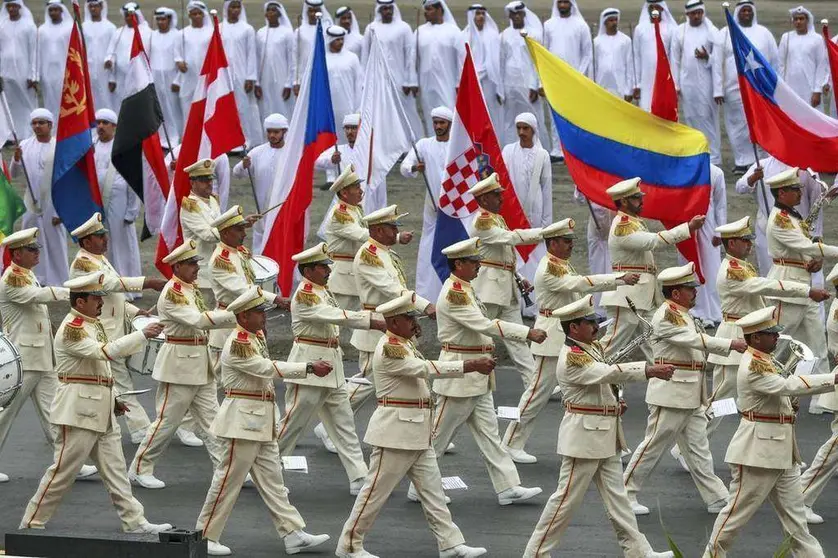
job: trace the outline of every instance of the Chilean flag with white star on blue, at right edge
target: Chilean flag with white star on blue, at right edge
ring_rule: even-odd
[[[751,141],[787,165],[838,172],[838,120],[798,97],[728,10],[725,16]]]

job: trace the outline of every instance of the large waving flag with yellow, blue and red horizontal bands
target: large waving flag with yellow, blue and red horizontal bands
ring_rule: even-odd
[[[710,152],[704,134],[615,97],[530,38],[527,46],[568,171],[587,198],[613,209],[605,190],[640,177],[643,217],[681,223],[706,213]],[[694,236],[677,248],[700,269]]]

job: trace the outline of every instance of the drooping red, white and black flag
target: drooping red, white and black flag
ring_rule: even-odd
[[[169,174],[158,130],[163,110],[157,98],[148,56],[133,16],[134,41],[126,85],[128,94],[119,107],[111,161],[135,194],[143,201],[143,239],[160,232],[163,208],[169,193]]]

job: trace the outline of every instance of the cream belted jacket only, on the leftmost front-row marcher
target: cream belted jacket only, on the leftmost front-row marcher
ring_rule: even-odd
[[[111,381],[110,362],[140,352],[144,346],[141,331],[108,341],[99,320],[71,310],[55,334],[55,371],[59,384],[52,401],[50,422],[107,432],[114,422],[112,388],[106,383],[95,383],[96,380],[90,383],[61,380],[69,376]]]

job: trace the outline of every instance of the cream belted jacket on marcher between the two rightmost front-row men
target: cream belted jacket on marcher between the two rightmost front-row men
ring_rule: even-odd
[[[646,403],[674,409],[697,409],[707,402],[705,354],[727,354],[730,339],[704,333],[688,310],[667,300],[652,317],[655,362],[675,365],[670,381],[651,378]]]

